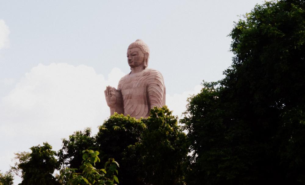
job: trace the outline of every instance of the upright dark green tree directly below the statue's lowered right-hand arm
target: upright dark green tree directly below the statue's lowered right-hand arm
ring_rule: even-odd
[[[145,184],[184,184],[183,164],[187,156],[186,135],[167,106],[154,107],[143,119],[147,129],[139,143]]]

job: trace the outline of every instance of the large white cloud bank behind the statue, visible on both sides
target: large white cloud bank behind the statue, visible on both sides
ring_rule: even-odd
[[[9,158],[18,151],[47,141],[54,150],[61,148],[61,138],[77,130],[97,127],[109,117],[104,90],[117,83],[125,74],[113,68],[108,79],[96,74],[92,67],[65,63],[42,65],[31,69],[14,89],[0,100],[0,169],[8,170]],[[9,83],[11,80],[7,80]],[[186,99],[198,93],[201,86],[182,94],[167,95],[173,114],[185,111]]]

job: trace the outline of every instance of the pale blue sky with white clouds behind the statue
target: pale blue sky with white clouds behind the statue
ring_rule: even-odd
[[[130,72],[127,47],[142,39],[163,74],[166,104],[181,117],[201,82],[231,65],[228,34],[261,0],[0,1],[0,170],[14,153],[98,126],[104,90]],[[20,182],[16,179],[15,183]]]

